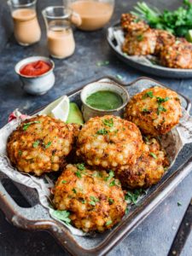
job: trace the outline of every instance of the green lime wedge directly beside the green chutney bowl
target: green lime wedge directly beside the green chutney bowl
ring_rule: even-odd
[[[67,123],[68,124],[79,124],[79,125],[84,124],[84,118],[82,116],[82,113],[80,112],[78,105],[74,102],[70,103]]]

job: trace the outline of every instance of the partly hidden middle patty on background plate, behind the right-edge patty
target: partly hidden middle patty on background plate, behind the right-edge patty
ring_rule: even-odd
[[[156,29],[157,34],[157,42],[155,45],[155,54],[159,55],[161,50],[164,49],[166,45],[171,46],[175,43],[176,38],[172,35],[171,32],[167,32],[166,30]]]

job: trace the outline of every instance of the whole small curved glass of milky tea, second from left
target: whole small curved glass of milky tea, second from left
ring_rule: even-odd
[[[50,6],[42,14],[47,28],[49,54],[58,59],[73,55],[73,11],[63,6]]]

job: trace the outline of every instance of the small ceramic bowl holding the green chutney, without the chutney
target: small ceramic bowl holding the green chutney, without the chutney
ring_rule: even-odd
[[[119,108],[115,108],[115,109],[111,109],[111,110],[102,110],[102,109],[96,109],[96,108],[92,108],[90,107],[90,105],[88,105],[86,103],[86,99],[93,93],[95,93],[96,91],[101,91],[101,90],[109,90],[109,91],[113,91],[117,94],[119,94],[119,96],[121,96],[123,103]],[[81,101],[83,103],[82,105],[82,113],[84,116],[84,121],[89,120],[92,117],[95,116],[103,116],[103,115],[108,115],[108,114],[112,114],[112,115],[117,115],[117,116],[123,116],[124,113],[124,108],[127,104],[127,102],[129,101],[129,94],[127,92],[127,90],[120,86],[119,84],[116,83],[112,83],[112,82],[105,82],[105,81],[101,81],[101,82],[95,82],[92,84],[88,84],[84,87],[84,89],[81,91]]]

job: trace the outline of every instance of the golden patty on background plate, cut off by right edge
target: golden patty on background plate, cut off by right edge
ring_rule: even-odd
[[[192,44],[181,38],[166,45],[160,52],[160,62],[166,67],[192,68]]]

